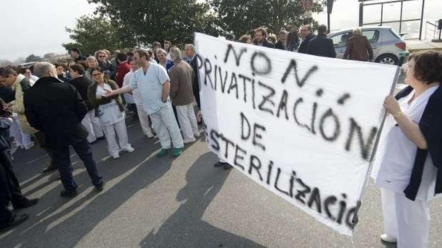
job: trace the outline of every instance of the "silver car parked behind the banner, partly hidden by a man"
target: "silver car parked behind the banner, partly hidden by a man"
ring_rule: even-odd
[[[368,38],[373,48],[373,59],[376,63],[397,65],[399,53],[406,51],[405,41],[391,27],[361,27],[362,35]],[[353,36],[353,29],[339,30],[327,35],[333,40],[336,58],[342,59],[347,42]]]

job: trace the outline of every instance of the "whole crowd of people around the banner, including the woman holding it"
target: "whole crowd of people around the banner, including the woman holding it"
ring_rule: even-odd
[[[264,28],[257,28],[253,39],[244,35],[239,42],[334,58],[333,42],[326,37],[326,32],[326,27],[321,25],[314,35],[311,27],[305,25],[298,39],[297,32],[287,33],[282,29],[276,37],[268,35]],[[361,29],[354,29],[353,34],[344,58],[373,59],[373,51]],[[45,149],[51,162],[42,172],[58,169],[63,197],[77,195],[69,146],[73,146],[84,162],[98,192],[103,189],[104,180],[97,170],[90,144],[105,139],[109,156],[114,159],[118,159],[122,151],[135,152],[129,142],[127,113],[138,116],[147,138],[159,139],[158,157],[180,156],[184,145],[195,142],[200,135],[198,122],[202,114],[194,45],[187,44],[182,51],[169,41],[163,46],[154,42],[151,49],[116,52],[114,56],[107,50],[98,50],[93,56],[84,56],[78,49],[71,49],[69,53],[72,57],[69,63],[39,62],[29,68],[0,68],[3,86],[0,88],[0,228],[10,228],[27,219],[26,214],[11,212],[10,202],[14,209],[38,202],[21,193],[13,171],[9,135],[17,147],[31,149],[36,142]],[[377,181],[383,188],[386,234],[382,239],[397,241],[399,247],[425,247],[428,201],[442,192],[440,68],[441,53],[412,55],[406,70],[409,87],[396,98],[388,96],[384,103],[391,118],[398,123],[394,130],[388,130],[386,142],[394,145],[387,147],[385,154],[396,154],[400,159],[392,162],[389,155],[385,155],[380,175],[389,181],[396,178],[402,181],[388,185]],[[404,152],[407,156],[403,156]],[[419,188],[424,163],[425,171],[429,172],[426,172],[423,188]],[[221,158],[214,166],[232,168]],[[410,216],[424,228],[407,222]],[[409,246],[409,242],[413,245]]]

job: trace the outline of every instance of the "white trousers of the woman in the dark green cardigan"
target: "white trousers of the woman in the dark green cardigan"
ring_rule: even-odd
[[[119,121],[114,125],[101,126],[101,128],[104,131],[104,136],[107,141],[107,150],[111,156],[118,155],[120,148],[121,150],[127,150],[132,147],[128,142],[128,131],[126,129],[125,120]],[[117,144],[115,133],[117,133],[120,146]]]

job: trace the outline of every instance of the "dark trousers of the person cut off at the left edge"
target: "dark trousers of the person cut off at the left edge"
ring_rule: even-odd
[[[12,169],[11,156],[7,151],[0,152],[0,224],[8,223],[12,218],[11,211],[6,207],[10,201],[15,206],[26,200]]]

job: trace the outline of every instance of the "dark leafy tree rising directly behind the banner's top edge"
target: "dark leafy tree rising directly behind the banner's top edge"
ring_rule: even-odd
[[[303,23],[305,11],[302,0],[211,0],[218,25],[236,38],[265,27],[277,34],[281,28],[297,30]],[[313,0],[312,12],[322,11],[325,0]]]

